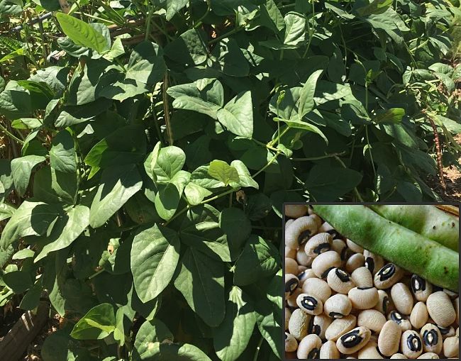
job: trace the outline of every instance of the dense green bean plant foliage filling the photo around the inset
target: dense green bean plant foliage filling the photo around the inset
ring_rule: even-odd
[[[0,305],[48,292],[45,361],[276,360],[282,203],[438,199],[435,133],[459,167],[446,1],[70,5],[0,0]]]

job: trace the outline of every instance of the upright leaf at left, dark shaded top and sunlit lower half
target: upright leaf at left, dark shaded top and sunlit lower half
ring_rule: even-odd
[[[61,130],[52,140],[50,165],[59,172],[77,172],[74,138],[66,129]]]

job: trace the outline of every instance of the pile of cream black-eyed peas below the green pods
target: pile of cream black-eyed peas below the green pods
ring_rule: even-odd
[[[459,297],[285,206],[285,355],[458,358]]]

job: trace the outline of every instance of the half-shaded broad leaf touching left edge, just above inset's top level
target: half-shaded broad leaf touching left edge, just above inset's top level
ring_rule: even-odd
[[[1,233],[0,248],[6,249],[21,237],[43,235],[61,213],[62,208],[57,204],[24,201],[6,223]]]

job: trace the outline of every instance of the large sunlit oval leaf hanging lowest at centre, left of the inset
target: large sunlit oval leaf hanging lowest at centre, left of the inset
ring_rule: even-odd
[[[162,226],[141,231],[131,247],[131,273],[139,299],[155,299],[173,277],[179,259],[177,233]]]

